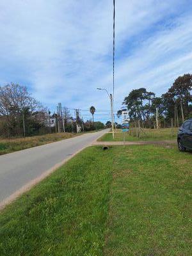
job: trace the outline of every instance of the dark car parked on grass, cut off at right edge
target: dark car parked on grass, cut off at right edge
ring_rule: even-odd
[[[179,128],[177,143],[180,151],[192,150],[192,119],[187,120]]]

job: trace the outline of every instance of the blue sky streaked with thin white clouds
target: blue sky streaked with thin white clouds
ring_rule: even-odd
[[[133,89],[161,96],[192,72],[191,12],[191,0],[116,0],[115,110]],[[113,0],[0,0],[0,35],[1,85],[27,86],[51,111],[95,106],[95,120],[109,119],[97,87],[113,91]]]

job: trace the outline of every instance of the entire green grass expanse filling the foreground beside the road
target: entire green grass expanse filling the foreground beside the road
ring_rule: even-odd
[[[89,147],[0,215],[0,255],[192,255],[191,153]]]

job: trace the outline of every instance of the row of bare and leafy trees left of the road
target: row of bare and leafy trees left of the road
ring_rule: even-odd
[[[95,108],[90,108],[92,120],[84,122],[66,107],[52,113],[32,97],[26,86],[6,84],[0,86],[0,136],[33,136],[48,132],[77,132],[103,129],[102,122],[94,122]],[[64,127],[64,129],[63,129]]]

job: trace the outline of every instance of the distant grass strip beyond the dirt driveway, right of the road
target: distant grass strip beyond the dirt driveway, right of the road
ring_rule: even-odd
[[[152,140],[176,140],[178,129],[143,129],[145,132],[140,132],[140,138],[132,136],[129,132],[125,133],[125,141],[152,141]],[[113,140],[112,133],[106,133],[98,139],[98,141],[123,141],[124,133],[116,132]]]

